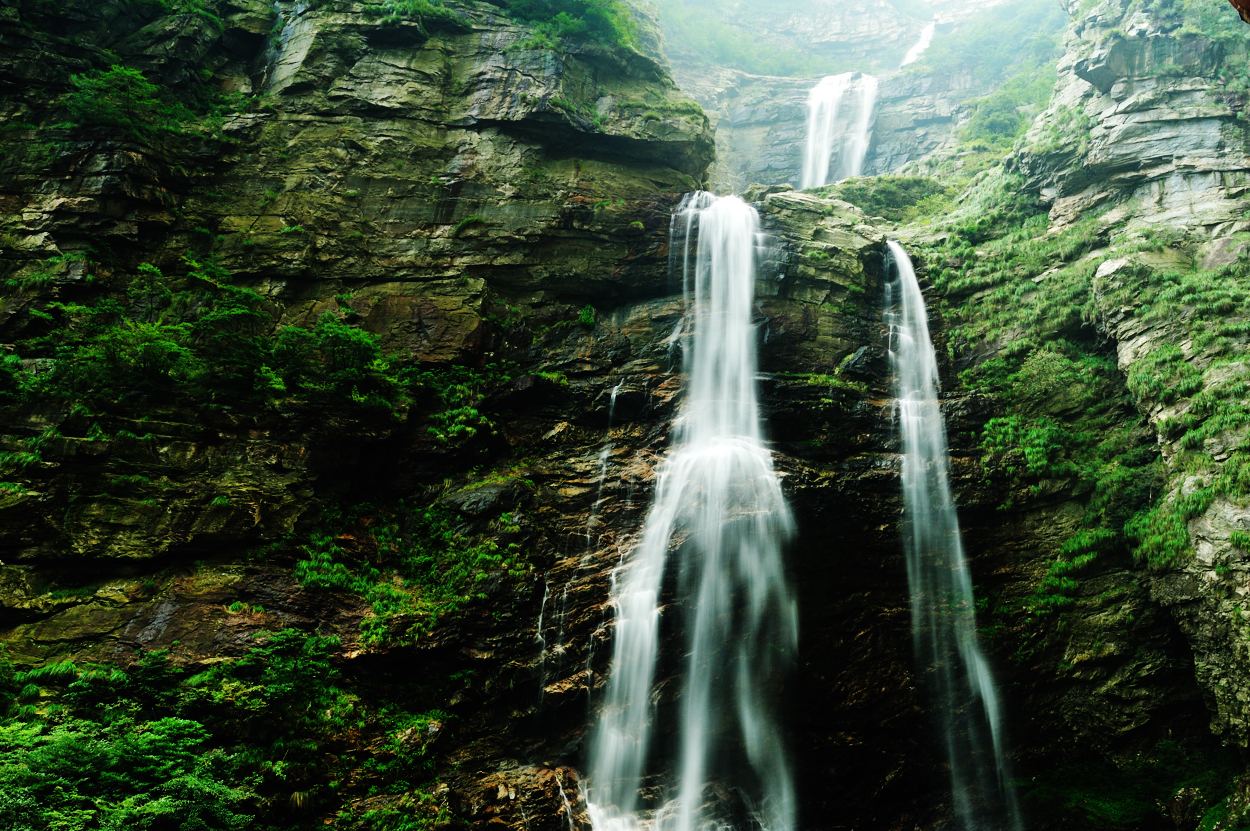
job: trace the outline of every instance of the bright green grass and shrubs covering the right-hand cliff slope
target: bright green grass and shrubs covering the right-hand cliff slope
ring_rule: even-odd
[[[961,381],[1002,414],[981,445],[1006,504],[1088,495],[1081,526],[1031,600],[1045,612],[1074,602],[1079,572],[1124,541],[1140,561],[1169,567],[1190,556],[1190,520],[1216,499],[1250,500],[1250,447],[1239,439],[1250,429],[1250,321],[1240,314],[1250,259],[1206,271],[1184,234],[1108,239],[1098,216],[1051,232],[1020,194],[1002,174],[981,181],[930,260],[951,309],[952,357],[980,356]],[[1095,285],[1095,266],[1115,256],[1126,265]],[[1166,334],[1126,382],[1095,329],[1124,309]],[[1170,415],[1155,426],[1178,450],[1166,479],[1136,415],[1164,405]]]

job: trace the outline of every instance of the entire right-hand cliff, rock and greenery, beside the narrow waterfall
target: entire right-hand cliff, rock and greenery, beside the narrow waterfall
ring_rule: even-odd
[[[986,546],[986,620],[1011,645],[1008,695],[1029,709],[1021,724],[1101,724],[1089,747],[1115,780],[1134,746],[1198,741],[1205,721],[1245,746],[1244,44],[1235,16],[1198,6],[1069,12],[1048,110],[951,216],[911,232],[951,382],[981,412],[956,419],[956,436],[1002,489],[981,505],[1050,526],[1011,541],[994,540],[1002,525],[1036,526],[970,531]],[[962,504],[978,524],[975,491]],[[1220,759],[1176,757],[1189,772],[1168,786],[1175,827],[1236,827],[1239,766]],[[1090,800],[1102,775],[1075,767],[1035,792]],[[1086,821],[1164,822],[1130,802]]]

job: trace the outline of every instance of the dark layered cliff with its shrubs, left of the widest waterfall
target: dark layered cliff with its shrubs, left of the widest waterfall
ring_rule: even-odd
[[[666,432],[701,110],[481,2],[29,2],[0,41],[0,620],[19,672],[68,667],[14,706],[122,667],[109,706],[206,725],[249,827],[566,827],[585,699],[535,712],[608,566],[542,577],[612,386],[618,457]]]

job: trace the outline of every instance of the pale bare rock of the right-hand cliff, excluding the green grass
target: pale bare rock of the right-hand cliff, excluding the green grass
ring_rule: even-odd
[[[1245,44],[1222,34],[1235,25],[1232,19],[1214,31],[1198,30],[1160,5],[1100,5],[1074,29],[1055,101],[1015,162],[1051,204],[1058,227],[1101,215],[1108,224],[1188,236],[1172,244],[1175,256],[1165,250],[1094,259],[1099,325],[1115,344],[1125,375],[1149,372],[1160,349],[1179,345],[1186,371],[1198,379],[1196,396],[1178,396],[1175,386],[1139,394],[1142,412],[1158,430],[1175,500],[1212,486],[1220,490],[1216,482],[1238,464],[1236,427],[1212,425],[1199,459],[1191,459],[1191,439],[1175,425],[1215,417],[1204,399],[1226,395],[1228,385],[1240,377],[1245,339],[1195,340],[1216,325],[1200,322],[1212,310],[1174,301],[1176,314],[1152,315],[1148,287],[1176,267],[1228,266],[1245,250],[1245,100],[1226,79],[1228,66],[1245,61]],[[1176,259],[1181,247],[1191,252],[1190,264]],[[1236,272],[1210,279],[1224,285],[1239,280]],[[1240,312],[1225,312],[1219,316],[1228,329]],[[1239,599],[1248,585],[1238,565],[1242,555],[1230,535],[1246,527],[1250,515],[1236,489],[1220,492],[1202,497],[1200,510],[1185,516],[1194,554],[1162,569],[1151,592],[1176,617],[1194,650],[1198,679],[1214,705],[1215,732],[1245,746],[1250,710]]]

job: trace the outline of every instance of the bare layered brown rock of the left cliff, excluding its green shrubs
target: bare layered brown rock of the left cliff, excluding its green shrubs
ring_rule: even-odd
[[[639,497],[605,511],[622,516],[614,532],[645,506],[646,451],[666,435],[678,387],[665,346],[680,315],[669,216],[702,182],[712,141],[648,52],[532,44],[531,27],[496,6],[448,5],[449,16],[394,19],[372,4],[249,0],[205,15],[0,11],[0,279],[22,286],[0,301],[6,355],[39,335],[31,310],[124,295],[139,264],[182,274],[191,252],[258,292],[279,331],[335,312],[414,372],[495,379],[476,401],[490,435],[450,446],[431,437],[440,405],[429,400],[370,424],[316,407],[166,406],[130,420],[105,407],[92,426],[6,399],[0,639],[19,666],[128,665],[169,650],[204,667],[259,632],[336,635],[370,707],[455,711],[436,745],[438,805],[461,822],[564,829],[576,774],[556,765],[579,760],[591,685],[558,634],[568,621],[568,641],[596,644],[616,554],[584,590],[564,594],[560,569],[598,527],[588,516],[622,379],[615,457],[636,469],[620,487],[635,481]],[[44,142],[69,75],[100,65],[65,50],[68,35],[179,95],[211,71],[224,104],[202,130],[88,125]],[[492,369],[502,361],[506,375]],[[494,575],[489,601],[415,646],[371,647],[369,602],[302,585],[294,565],[328,506],[396,499],[524,544],[524,576]],[[361,540],[338,545],[372,556]],[[464,677],[481,682],[466,692]],[[394,800],[379,799],[344,810]]]

